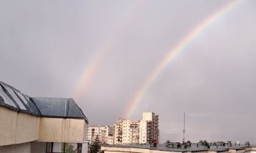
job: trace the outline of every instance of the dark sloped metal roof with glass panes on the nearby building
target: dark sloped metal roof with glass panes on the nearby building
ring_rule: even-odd
[[[0,105],[16,112],[26,112],[34,116],[88,119],[73,98],[31,98],[16,88],[0,81]]]

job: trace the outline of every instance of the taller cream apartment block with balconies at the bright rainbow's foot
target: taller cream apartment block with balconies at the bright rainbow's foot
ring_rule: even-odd
[[[142,120],[118,119],[114,144],[147,144],[159,140],[158,115],[143,112]]]

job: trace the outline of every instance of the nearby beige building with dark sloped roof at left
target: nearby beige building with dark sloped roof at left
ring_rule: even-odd
[[[81,153],[88,119],[73,98],[31,98],[0,82],[0,129],[0,152]]]

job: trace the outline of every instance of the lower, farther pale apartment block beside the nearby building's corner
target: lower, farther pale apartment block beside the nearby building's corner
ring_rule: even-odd
[[[114,144],[114,131],[113,126],[109,125],[98,125],[98,126],[88,126],[87,140],[92,143],[96,136],[99,137],[99,141],[102,144]]]

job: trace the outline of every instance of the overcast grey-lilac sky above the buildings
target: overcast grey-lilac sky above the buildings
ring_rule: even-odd
[[[148,84],[175,46],[235,1],[0,2],[0,80],[31,97],[74,98],[89,124],[160,116],[160,141],[256,144],[256,1],[204,27]],[[130,116],[127,116],[130,112]]]

